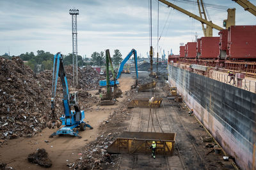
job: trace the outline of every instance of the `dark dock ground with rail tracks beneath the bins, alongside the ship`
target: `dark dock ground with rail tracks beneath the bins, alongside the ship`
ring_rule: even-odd
[[[169,101],[165,96],[163,85],[157,85],[152,92],[139,92],[140,97],[163,97],[160,108],[152,109],[153,120],[149,120],[149,108],[132,108],[132,116],[127,127],[129,132],[163,132],[177,134],[172,156],[121,154],[118,169],[212,169],[209,159],[205,159],[205,150],[200,144],[194,129],[204,130],[196,124],[193,117],[188,117],[188,110],[182,108],[182,103]],[[184,104],[183,104],[184,105]],[[184,106],[183,106],[184,107]],[[191,122],[188,122],[191,121]],[[148,127],[148,122],[150,123]],[[195,125],[194,125],[195,124]],[[206,132],[205,132],[206,133]]]

